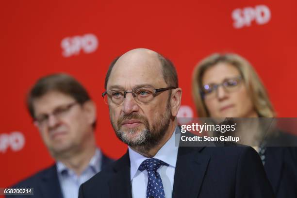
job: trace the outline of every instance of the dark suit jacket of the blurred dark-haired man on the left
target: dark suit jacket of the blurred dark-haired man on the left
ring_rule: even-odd
[[[114,160],[102,154],[101,169]],[[33,176],[20,181],[14,188],[34,188],[34,196],[6,196],[7,198],[63,198],[56,165],[39,171]]]

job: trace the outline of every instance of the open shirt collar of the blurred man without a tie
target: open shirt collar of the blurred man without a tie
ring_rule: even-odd
[[[101,167],[101,158],[102,153],[99,148],[96,148],[94,156],[91,158],[89,165],[85,168],[85,170],[90,167],[95,173],[98,173],[100,171]],[[64,173],[70,173],[73,172],[71,169],[69,169],[66,165],[64,165],[62,162],[57,161],[57,172],[58,174],[63,175]],[[84,172],[84,171],[83,171]]]

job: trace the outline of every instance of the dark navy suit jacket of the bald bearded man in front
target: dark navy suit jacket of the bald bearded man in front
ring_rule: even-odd
[[[251,147],[180,147],[173,198],[274,198]],[[127,152],[83,183],[79,198],[132,198]]]

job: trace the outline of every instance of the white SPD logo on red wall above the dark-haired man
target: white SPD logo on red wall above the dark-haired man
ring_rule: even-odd
[[[82,36],[66,37],[61,41],[61,47],[63,49],[62,55],[69,57],[72,55],[78,55],[81,51],[84,53],[92,53],[98,48],[98,39],[96,35],[87,33]]]

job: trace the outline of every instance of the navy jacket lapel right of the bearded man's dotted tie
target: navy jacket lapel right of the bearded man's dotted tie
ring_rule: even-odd
[[[210,161],[203,147],[180,147],[174,174],[172,198],[197,198]]]

